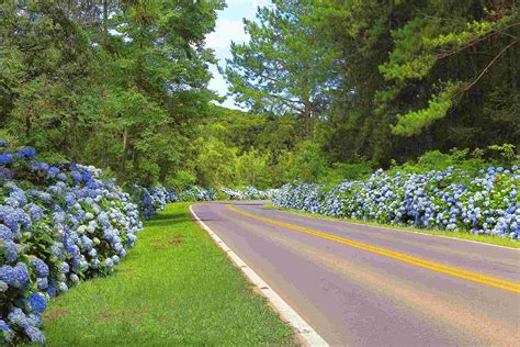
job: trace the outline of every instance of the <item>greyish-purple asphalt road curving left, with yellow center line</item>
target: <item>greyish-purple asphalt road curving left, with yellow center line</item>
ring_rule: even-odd
[[[520,346],[520,250],[263,208],[193,206],[330,345]]]

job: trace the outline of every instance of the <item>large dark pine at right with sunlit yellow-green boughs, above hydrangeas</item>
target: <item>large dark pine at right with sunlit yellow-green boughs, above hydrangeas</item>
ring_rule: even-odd
[[[342,68],[320,130],[332,161],[389,165],[428,149],[518,143],[515,1],[320,1]]]

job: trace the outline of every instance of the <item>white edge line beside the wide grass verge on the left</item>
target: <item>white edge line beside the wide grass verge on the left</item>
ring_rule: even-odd
[[[327,342],[310,326],[296,311],[293,310],[271,287],[269,287],[260,276],[255,272],[239,256],[237,256],[223,240],[213,232],[193,211],[190,212],[196,222],[205,230],[213,240],[221,247],[235,265],[246,275],[246,277],[258,288],[271,305],[280,313],[282,320],[287,322],[295,331],[296,335],[308,346],[329,346]]]

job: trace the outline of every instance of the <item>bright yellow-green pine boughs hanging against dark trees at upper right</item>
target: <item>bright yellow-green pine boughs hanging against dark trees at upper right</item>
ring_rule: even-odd
[[[462,7],[455,10],[460,21],[449,21],[441,15],[420,16],[417,15],[408,20],[402,27],[392,32],[395,47],[389,53],[389,59],[380,66],[380,70],[387,81],[391,81],[394,88],[404,89],[406,82],[414,83],[420,81],[423,86],[432,86],[436,80],[445,80],[446,87],[439,93],[429,92],[430,99],[428,108],[420,111],[407,111],[407,113],[397,115],[397,125],[393,127],[394,134],[411,136],[420,134],[425,127],[436,121],[444,117],[450,109],[453,108],[453,99],[472,89],[475,83],[484,76],[493,65],[501,58],[501,55],[513,47],[518,38],[509,37],[509,31],[518,26],[518,12],[508,8],[508,4],[497,4],[501,7],[497,11],[482,9],[483,18],[474,19],[467,22],[464,15],[474,8]],[[443,7],[436,9],[443,14]],[[432,11],[429,7],[426,10]],[[451,9],[453,11],[453,9]],[[487,13],[486,13],[487,11]],[[471,13],[471,12],[470,12]],[[453,13],[451,14],[453,16]],[[485,47],[485,41],[493,38],[490,47]],[[498,46],[497,49],[494,46]],[[462,56],[470,48],[475,53],[487,49],[488,59],[472,58],[474,68],[482,66],[470,76],[470,74],[445,74],[451,70],[450,63],[445,59],[454,60]],[[436,69],[438,64],[443,67]],[[462,61],[461,61],[462,64]],[[456,65],[455,65],[456,66]],[[455,67],[454,66],[454,67]],[[509,67],[507,67],[509,68]],[[481,72],[478,72],[481,70]],[[455,77],[453,77],[455,76]],[[430,87],[430,90],[433,89]],[[425,96],[419,94],[419,100]],[[386,103],[397,101],[402,93],[393,99],[386,100]],[[410,98],[412,101],[416,98]]]

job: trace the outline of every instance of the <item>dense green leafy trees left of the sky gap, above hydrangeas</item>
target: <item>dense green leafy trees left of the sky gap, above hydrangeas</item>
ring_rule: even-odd
[[[0,124],[44,156],[151,184],[173,175],[213,98],[215,1],[0,5]]]

